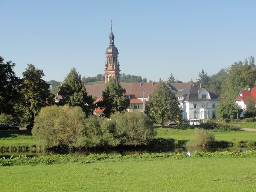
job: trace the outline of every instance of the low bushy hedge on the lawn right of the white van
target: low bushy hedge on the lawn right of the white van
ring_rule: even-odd
[[[219,130],[239,130],[238,126],[231,124],[231,123],[225,123],[225,122],[218,122],[213,120],[207,120],[206,122],[203,122],[200,124],[200,127],[203,129],[219,129]]]

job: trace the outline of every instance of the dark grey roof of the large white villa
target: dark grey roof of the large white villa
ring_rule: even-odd
[[[201,89],[205,89],[209,95],[210,99],[204,98],[204,99],[198,99],[198,93],[200,92]],[[221,102],[221,100],[218,98],[218,96],[213,93],[211,90],[207,88],[200,88],[195,85],[189,85],[189,87],[185,88],[183,91],[180,91],[176,94],[176,96],[184,96],[183,102],[196,102],[196,101],[216,101],[216,102]]]

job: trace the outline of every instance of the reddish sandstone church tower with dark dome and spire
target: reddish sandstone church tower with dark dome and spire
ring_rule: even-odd
[[[105,84],[107,84],[110,77],[113,77],[116,82],[119,82],[120,77],[120,65],[117,61],[118,50],[114,45],[114,34],[112,31],[112,20],[111,20],[111,32],[109,35],[109,47],[106,50],[107,61],[105,62]]]

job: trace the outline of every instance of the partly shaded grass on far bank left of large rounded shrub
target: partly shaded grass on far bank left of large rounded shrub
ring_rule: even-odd
[[[31,130],[0,131],[0,146],[32,146],[35,140]]]

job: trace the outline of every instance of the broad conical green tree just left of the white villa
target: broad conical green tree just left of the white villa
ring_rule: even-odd
[[[171,90],[161,82],[149,96],[145,113],[148,114],[151,119],[161,119],[162,125],[164,125],[165,119],[176,119],[177,115],[181,116],[181,109],[177,98],[172,94]]]

